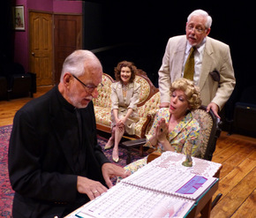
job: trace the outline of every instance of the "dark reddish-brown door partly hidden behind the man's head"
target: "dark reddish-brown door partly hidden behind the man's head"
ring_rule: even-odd
[[[54,15],[55,83],[60,79],[64,59],[82,49],[82,15]]]

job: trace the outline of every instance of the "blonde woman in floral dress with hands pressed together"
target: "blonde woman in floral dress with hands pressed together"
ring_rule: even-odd
[[[198,147],[200,124],[191,111],[200,108],[199,87],[188,79],[177,79],[170,86],[169,109],[159,109],[147,135],[145,147],[154,147],[157,152],[173,151],[194,155]],[[147,164],[147,157],[124,167],[133,173]]]

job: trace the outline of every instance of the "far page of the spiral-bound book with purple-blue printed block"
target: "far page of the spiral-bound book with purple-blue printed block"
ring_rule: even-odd
[[[147,190],[175,195],[186,199],[198,199],[217,178],[204,177],[176,169],[152,167],[147,164],[121,182]]]

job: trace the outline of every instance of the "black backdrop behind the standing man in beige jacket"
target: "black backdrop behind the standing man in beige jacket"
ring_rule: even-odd
[[[84,49],[117,45],[96,52],[103,71],[114,77],[119,61],[132,61],[158,86],[158,70],[169,37],[185,34],[187,16],[196,9],[207,11],[213,19],[210,37],[230,45],[237,85],[225,107],[225,117],[232,119],[235,103],[242,92],[255,82],[254,5],[245,1],[86,1],[101,13],[85,13],[85,31],[92,38]],[[90,26],[88,26],[90,23]],[[98,28],[100,26],[100,29]],[[87,35],[85,34],[85,35]],[[118,46],[119,45],[119,46]]]

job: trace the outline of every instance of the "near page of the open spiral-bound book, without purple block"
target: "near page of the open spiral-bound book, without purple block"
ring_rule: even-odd
[[[184,217],[193,205],[192,200],[184,200],[121,182],[101,197],[80,208],[75,215],[80,218]]]

